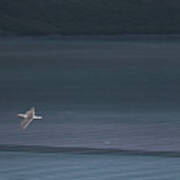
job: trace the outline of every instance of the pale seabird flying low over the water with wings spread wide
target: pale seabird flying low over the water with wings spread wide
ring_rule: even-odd
[[[22,129],[26,129],[28,127],[28,125],[32,122],[33,119],[36,119],[36,120],[42,119],[42,116],[35,115],[34,107],[32,107],[25,114],[17,114],[17,116],[20,118],[24,118],[24,120],[21,122]]]

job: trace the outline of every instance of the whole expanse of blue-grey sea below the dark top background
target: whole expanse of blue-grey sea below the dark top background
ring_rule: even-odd
[[[1,39],[1,177],[179,179],[179,59],[177,39]]]

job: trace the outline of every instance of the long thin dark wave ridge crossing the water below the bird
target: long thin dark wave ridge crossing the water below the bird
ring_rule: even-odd
[[[118,148],[89,148],[89,147],[53,147],[39,145],[0,145],[0,151],[38,152],[38,153],[78,153],[78,154],[124,154],[146,156],[180,157],[180,151],[148,151],[128,150]]]

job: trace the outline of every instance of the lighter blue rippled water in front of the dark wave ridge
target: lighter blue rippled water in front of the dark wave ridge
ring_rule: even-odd
[[[178,180],[178,158],[0,152],[1,179]]]

